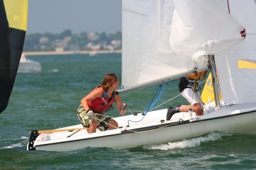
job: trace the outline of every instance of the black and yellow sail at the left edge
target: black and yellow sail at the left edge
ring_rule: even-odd
[[[28,0],[0,0],[0,113],[7,107],[27,29]]]

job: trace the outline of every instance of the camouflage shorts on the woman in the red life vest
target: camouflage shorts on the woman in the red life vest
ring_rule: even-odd
[[[97,128],[100,131],[108,130],[109,127],[107,127],[107,125],[111,120],[113,120],[113,118],[108,117],[107,115],[100,115],[100,114],[97,114],[95,118],[88,118],[86,110],[84,110],[81,104],[77,109],[77,118],[80,120],[80,122],[84,127],[89,127],[89,124],[93,121],[98,122]]]

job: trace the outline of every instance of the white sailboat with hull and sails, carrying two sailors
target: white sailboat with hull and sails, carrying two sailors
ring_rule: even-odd
[[[28,150],[132,148],[213,131],[256,132],[256,4],[253,0],[123,0],[120,93],[211,71],[204,115],[167,109],[116,117],[118,129],[88,134],[82,125],[31,131]],[[211,82],[206,81],[210,84]],[[214,101],[210,91],[214,94]],[[221,94],[221,96],[220,96]],[[171,95],[171,94],[170,94]],[[156,99],[159,96],[156,97]]]

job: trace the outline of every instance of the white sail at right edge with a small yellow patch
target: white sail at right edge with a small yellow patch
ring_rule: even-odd
[[[223,4],[227,6],[227,1]],[[230,1],[229,9],[230,15],[245,27],[246,38],[227,52],[215,55],[221,94],[226,103],[252,103],[256,101],[255,1]]]

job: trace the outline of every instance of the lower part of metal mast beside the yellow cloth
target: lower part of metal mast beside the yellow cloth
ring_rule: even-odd
[[[220,96],[219,96],[219,90],[218,90],[216,68],[214,64],[214,55],[208,55],[208,56],[209,56],[210,69],[212,73],[212,85],[213,85],[213,91],[214,91],[215,108],[218,109],[220,108]]]

